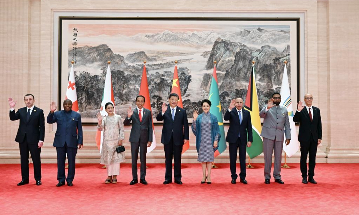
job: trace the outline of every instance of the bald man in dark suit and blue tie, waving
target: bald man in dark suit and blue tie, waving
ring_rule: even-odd
[[[232,177],[232,184],[236,183],[237,150],[239,153],[240,182],[247,184],[246,180],[246,150],[253,142],[252,121],[249,111],[243,109],[243,99],[237,98],[230,102],[228,110],[224,114],[224,120],[229,120],[229,129],[226,141],[229,143],[229,164]],[[248,138],[247,138],[248,134]]]

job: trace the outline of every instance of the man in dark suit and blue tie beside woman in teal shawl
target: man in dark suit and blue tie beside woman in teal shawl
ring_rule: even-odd
[[[180,97],[171,93],[168,97],[169,106],[163,103],[162,112],[156,117],[163,120],[161,143],[163,143],[166,165],[165,181],[163,184],[172,183],[172,158],[174,159],[174,183],[182,184],[181,155],[183,144],[190,139],[187,113],[185,109],[177,106]]]

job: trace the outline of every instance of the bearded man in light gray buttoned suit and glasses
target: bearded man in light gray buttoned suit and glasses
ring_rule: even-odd
[[[280,164],[282,160],[283,140],[285,133],[285,144],[290,142],[290,125],[288,111],[280,106],[280,94],[275,92],[259,115],[263,120],[261,136],[263,137],[264,153],[264,183],[270,184],[270,172],[272,167],[272,154],[274,149],[274,181],[284,184],[280,175]]]

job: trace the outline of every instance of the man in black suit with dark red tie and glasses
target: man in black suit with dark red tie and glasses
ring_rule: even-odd
[[[313,95],[304,95],[304,102],[298,102],[298,109],[294,114],[293,121],[299,123],[298,140],[300,142],[300,172],[302,172],[302,183],[308,182],[316,184],[314,180],[315,158],[317,147],[322,142],[322,119],[320,110],[312,106]],[[308,163],[308,180],[307,180],[307,156],[309,153]]]

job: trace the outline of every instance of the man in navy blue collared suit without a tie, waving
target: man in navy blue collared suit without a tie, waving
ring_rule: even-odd
[[[67,171],[67,186],[72,187],[75,177],[75,159],[77,149],[82,147],[82,124],[81,115],[72,109],[72,101],[66,99],[62,104],[64,110],[56,111],[56,103],[51,102],[50,113],[47,116],[47,123],[57,123],[57,130],[53,145],[57,152],[57,180],[59,183],[56,187],[65,185],[65,161],[69,163]]]

